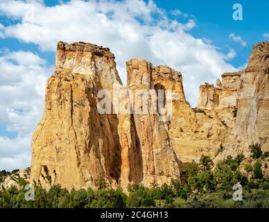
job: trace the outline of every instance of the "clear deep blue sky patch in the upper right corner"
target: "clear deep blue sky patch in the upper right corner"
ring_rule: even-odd
[[[238,56],[231,62],[238,67],[248,60],[252,50],[252,45],[265,41],[263,33],[269,31],[269,1],[155,1],[157,6],[166,10],[180,9],[189,15],[193,15],[197,21],[197,28],[190,33],[193,37],[205,37],[212,41],[212,44],[227,50],[225,46],[231,46],[236,50]],[[232,6],[234,3],[241,3],[243,6],[243,20],[234,21],[232,19]],[[243,37],[248,46],[242,47],[240,44],[229,39],[230,33],[236,33]]]

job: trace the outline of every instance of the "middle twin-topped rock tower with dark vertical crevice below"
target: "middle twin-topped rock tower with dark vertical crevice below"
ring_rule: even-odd
[[[175,89],[184,99],[182,76],[177,71],[166,66],[153,67],[142,59],[132,59],[126,65],[127,89],[133,94],[141,90],[137,94],[139,101],[143,95],[148,95],[149,104],[153,103],[155,97],[149,94],[150,89],[163,89],[164,94],[168,89]],[[141,114],[120,116],[123,160],[121,186],[125,187],[130,182],[150,186],[178,178],[180,167],[168,133],[168,121],[162,121],[159,113],[152,114],[150,109]]]

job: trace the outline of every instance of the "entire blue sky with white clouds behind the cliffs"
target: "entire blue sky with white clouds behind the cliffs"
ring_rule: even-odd
[[[130,58],[168,65],[194,107],[200,84],[243,69],[252,45],[269,39],[269,1],[240,1],[242,21],[232,18],[234,3],[0,0],[0,170],[31,164],[59,40],[109,47],[123,83]]]

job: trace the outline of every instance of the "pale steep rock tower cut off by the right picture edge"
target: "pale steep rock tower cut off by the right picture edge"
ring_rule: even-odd
[[[236,98],[236,123],[219,158],[238,152],[248,154],[250,144],[269,149],[269,43],[254,46],[250,61],[240,77]]]

